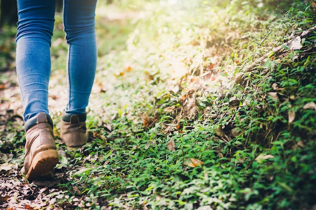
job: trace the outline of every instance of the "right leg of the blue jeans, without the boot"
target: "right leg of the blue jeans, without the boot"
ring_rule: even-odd
[[[83,114],[88,105],[96,69],[96,0],[64,0],[64,26],[69,44],[66,113]]]

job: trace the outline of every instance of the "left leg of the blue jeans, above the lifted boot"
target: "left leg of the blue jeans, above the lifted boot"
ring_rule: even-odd
[[[18,0],[16,65],[25,121],[48,114],[50,39],[54,29],[55,0]]]

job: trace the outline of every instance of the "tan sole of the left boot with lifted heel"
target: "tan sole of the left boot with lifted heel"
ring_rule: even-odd
[[[31,167],[26,174],[26,179],[32,181],[38,177],[52,178],[52,170],[59,162],[58,153],[56,150],[41,151],[33,158]]]

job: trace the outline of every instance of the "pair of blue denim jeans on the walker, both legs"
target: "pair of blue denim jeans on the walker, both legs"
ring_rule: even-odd
[[[85,113],[96,69],[97,0],[63,0],[69,45],[66,65],[69,100],[66,113]],[[16,66],[23,100],[23,119],[48,114],[50,44],[56,0],[18,0]]]

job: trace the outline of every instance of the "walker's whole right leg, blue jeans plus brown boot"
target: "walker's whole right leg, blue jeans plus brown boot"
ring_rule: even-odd
[[[61,138],[69,148],[81,147],[88,141],[86,107],[97,60],[95,7],[96,0],[64,0],[69,101],[63,113]]]

